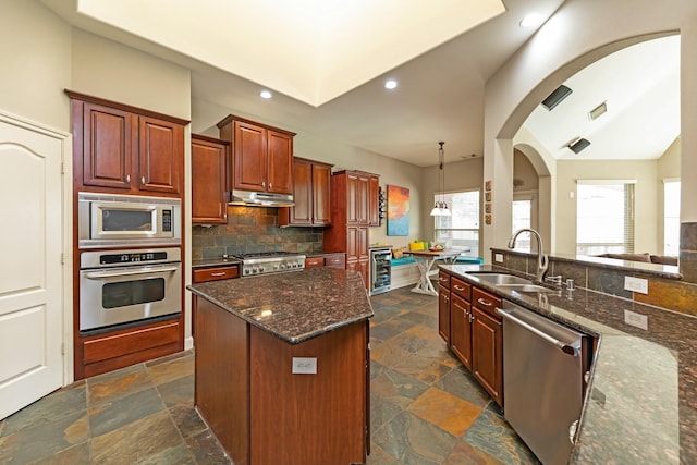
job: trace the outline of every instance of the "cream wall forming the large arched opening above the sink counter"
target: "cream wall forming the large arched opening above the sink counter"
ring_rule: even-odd
[[[525,118],[551,90],[599,58],[639,40],[681,30],[682,171],[697,171],[697,2],[693,0],[567,0],[486,86],[485,179],[511,178],[510,143]],[[683,183],[683,199],[697,183]],[[512,192],[494,196],[494,223],[484,228],[485,247],[501,247],[510,234]],[[683,221],[697,219],[697,204],[683,201]],[[555,211],[562,207],[557,206]],[[560,220],[558,219],[558,223]],[[564,240],[557,234],[558,244]],[[560,247],[557,247],[558,249]],[[485,255],[486,256],[486,255]]]

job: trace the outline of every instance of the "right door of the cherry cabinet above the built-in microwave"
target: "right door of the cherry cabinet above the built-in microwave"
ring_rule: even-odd
[[[184,129],[154,118],[139,119],[138,188],[179,194],[184,162]]]

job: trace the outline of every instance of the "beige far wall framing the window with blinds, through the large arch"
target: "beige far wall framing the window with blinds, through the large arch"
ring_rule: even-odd
[[[635,246],[637,253],[662,254],[656,188],[657,160],[559,160],[557,162],[557,254],[576,254],[576,181],[636,180]],[[573,194],[573,196],[572,196]]]

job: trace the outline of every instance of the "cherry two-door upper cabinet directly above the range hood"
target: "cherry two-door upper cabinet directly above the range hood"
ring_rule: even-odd
[[[232,147],[232,187],[240,191],[293,193],[295,133],[228,115],[218,123],[220,138]]]

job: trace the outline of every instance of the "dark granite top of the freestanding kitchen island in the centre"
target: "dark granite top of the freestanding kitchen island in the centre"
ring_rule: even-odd
[[[328,267],[187,289],[291,344],[374,315],[360,273]]]

